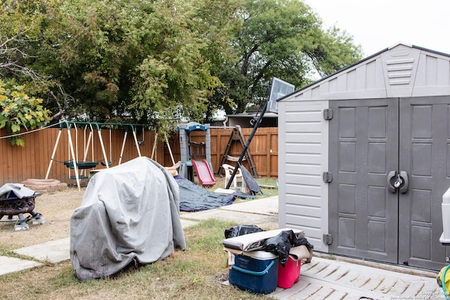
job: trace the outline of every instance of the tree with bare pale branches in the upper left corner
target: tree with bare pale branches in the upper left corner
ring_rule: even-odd
[[[25,93],[43,98],[44,107],[55,108],[51,119],[63,115],[70,97],[49,68],[63,22],[59,5],[60,0],[0,2],[0,79],[13,79]]]

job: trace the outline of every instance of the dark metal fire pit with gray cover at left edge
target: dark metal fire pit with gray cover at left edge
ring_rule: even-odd
[[[1,193],[3,191],[3,193]],[[0,222],[15,223],[14,231],[28,230],[28,222],[44,224],[45,218],[34,211],[36,197],[41,194],[23,185],[8,184],[0,188]],[[25,214],[29,214],[25,216]],[[4,216],[7,216],[4,219]]]

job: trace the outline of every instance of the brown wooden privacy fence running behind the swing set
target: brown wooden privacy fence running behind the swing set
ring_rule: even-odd
[[[53,164],[49,172],[49,178],[57,179],[65,183],[75,183],[75,179],[70,179],[70,176],[75,176],[73,169],[69,169],[63,162],[68,161],[71,157],[69,148],[69,139],[67,129],[61,129],[60,141],[58,148],[56,148]],[[41,129],[24,133],[23,139],[25,147],[12,146],[5,137],[6,130],[0,129],[0,186],[5,183],[20,183],[28,178],[44,179],[49,170],[53,148],[56,144],[56,138],[60,129]],[[251,128],[242,129],[245,141],[248,140]],[[229,143],[233,129],[210,129],[211,138],[211,162],[214,174],[219,170],[226,145]],[[89,137],[89,130],[85,131],[83,128],[77,130],[70,129],[72,136],[72,143],[75,148],[75,156],[78,155],[78,161],[84,159],[86,152],[86,161],[98,162],[94,169],[105,169],[107,164],[103,159],[103,151],[98,134],[94,130],[92,147],[89,143],[89,148],[86,147],[86,140]],[[124,142],[125,130],[120,129],[102,129],[101,136],[105,148],[105,154],[108,159],[108,164],[111,167],[121,163],[127,162],[130,159],[138,157],[138,150],[136,143],[131,133],[128,133],[127,139]],[[205,141],[204,131],[191,131],[191,141],[201,143]],[[85,139],[86,138],[86,139]],[[142,156],[152,157],[158,163],[165,167],[172,166],[172,155],[174,162],[180,160],[180,143],[179,135],[174,132],[171,136],[167,136],[168,145],[164,138],[158,138],[158,143],[155,142],[155,131],[136,132],[136,138],[139,144],[139,150]],[[122,157],[120,152],[124,146]],[[87,151],[86,151],[87,149]],[[233,143],[229,155],[236,157],[240,156],[243,148],[240,143]],[[172,155],[171,153],[172,152]],[[259,128],[250,143],[249,152],[252,155],[253,162],[257,169],[259,176],[278,176],[278,128]],[[103,162],[103,164],[101,163]],[[235,165],[236,162],[227,162]],[[248,168],[247,162],[243,162],[244,166]],[[82,170],[79,170],[80,172]],[[89,169],[84,170],[89,174]],[[87,176],[86,174],[86,176]]]

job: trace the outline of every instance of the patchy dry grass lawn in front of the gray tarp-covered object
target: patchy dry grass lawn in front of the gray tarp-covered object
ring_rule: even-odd
[[[185,228],[186,251],[104,280],[79,282],[70,261],[4,275],[1,299],[271,299],[222,284],[228,269],[221,240],[235,225],[207,220]]]

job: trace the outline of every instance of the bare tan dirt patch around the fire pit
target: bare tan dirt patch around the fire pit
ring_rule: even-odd
[[[46,223],[33,225],[30,221],[29,230],[14,231],[14,223],[0,222],[1,248],[13,250],[69,237],[70,216],[82,203],[85,190],[86,188],[80,191],[77,188],[64,188],[36,197],[34,211],[42,214]],[[4,220],[6,217],[1,219]]]

